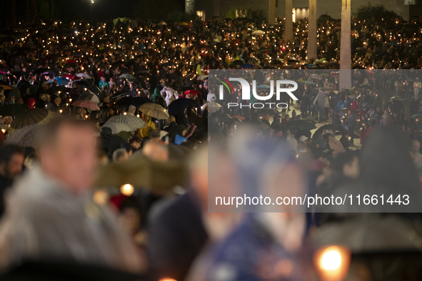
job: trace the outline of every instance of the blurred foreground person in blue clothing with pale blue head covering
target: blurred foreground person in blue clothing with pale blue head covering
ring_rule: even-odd
[[[240,194],[286,198],[304,193],[303,171],[296,163],[295,153],[286,145],[258,138],[238,139],[234,143],[231,153],[239,168]],[[215,188],[218,187],[211,185],[209,190]],[[216,205],[209,211],[224,208]],[[281,213],[271,213],[277,210]],[[311,269],[306,264],[310,261],[298,254],[306,223],[303,213],[295,213],[296,206],[246,204],[242,211],[240,225],[206,248],[188,280],[312,280],[306,277]]]

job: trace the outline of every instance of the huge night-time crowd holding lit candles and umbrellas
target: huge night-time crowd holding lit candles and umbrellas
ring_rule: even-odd
[[[268,179],[273,190],[420,188],[421,24],[353,19],[351,88],[340,88],[336,70],[340,21],[326,16],[318,58],[306,56],[304,20],[293,42],[283,41],[283,21],[250,19],[36,19],[5,31],[1,269],[46,258],[146,280],[315,280],[318,242],[303,237],[347,216],[208,213],[209,183],[225,192],[258,183],[271,164],[282,167]],[[296,81],[298,100],[274,95],[286,106],[255,108],[251,95],[233,108],[238,84],[217,98],[233,74],[256,80],[260,96],[271,81]]]

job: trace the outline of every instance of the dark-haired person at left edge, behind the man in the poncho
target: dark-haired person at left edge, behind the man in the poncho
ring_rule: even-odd
[[[0,148],[0,217],[4,213],[4,197],[24,167],[24,148],[4,145]]]

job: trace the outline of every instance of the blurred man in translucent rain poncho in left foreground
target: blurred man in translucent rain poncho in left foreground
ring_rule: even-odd
[[[0,265],[63,260],[139,272],[142,261],[114,213],[92,201],[90,123],[58,119],[40,132],[39,165],[16,182],[0,225]]]

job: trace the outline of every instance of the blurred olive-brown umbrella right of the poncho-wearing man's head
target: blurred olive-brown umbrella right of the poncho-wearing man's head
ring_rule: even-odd
[[[100,168],[96,185],[118,186],[131,184],[163,194],[186,181],[186,165],[180,160],[154,161],[135,153],[124,163],[111,163]]]

